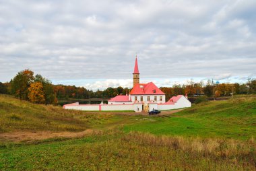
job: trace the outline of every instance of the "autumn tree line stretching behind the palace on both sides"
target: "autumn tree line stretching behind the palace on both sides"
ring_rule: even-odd
[[[246,83],[207,83],[195,82],[193,79],[184,85],[173,85],[170,88],[160,88],[166,94],[166,99],[179,94],[188,96],[220,97],[231,96],[231,94],[256,94],[256,79],[247,79]],[[129,88],[106,88],[106,90],[87,90],[84,87],[53,85],[49,79],[42,75],[34,75],[30,69],[20,71],[11,81],[0,82],[0,94],[11,94],[21,100],[28,100],[38,104],[57,104],[58,100],[77,98],[91,99],[113,98],[119,94],[129,94]]]

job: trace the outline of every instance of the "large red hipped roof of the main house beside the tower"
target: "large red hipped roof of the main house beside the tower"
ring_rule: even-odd
[[[150,83],[137,83],[133,90],[131,90],[130,94],[156,94],[156,95],[164,95],[156,85],[152,82]]]

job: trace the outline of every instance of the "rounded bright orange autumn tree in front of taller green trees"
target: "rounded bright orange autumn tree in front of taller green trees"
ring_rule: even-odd
[[[42,83],[35,82],[30,84],[30,87],[28,88],[28,99],[30,102],[37,104],[45,102]]]

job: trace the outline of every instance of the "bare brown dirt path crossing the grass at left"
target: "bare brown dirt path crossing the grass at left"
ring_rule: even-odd
[[[82,132],[51,132],[51,131],[34,131],[34,132],[13,132],[13,133],[1,133],[0,141],[35,141],[42,139],[51,139],[56,137],[74,138],[84,137],[86,135],[94,135],[100,133],[99,130],[86,129]]]

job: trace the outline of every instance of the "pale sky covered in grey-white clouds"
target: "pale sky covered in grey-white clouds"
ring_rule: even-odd
[[[256,1],[0,0],[0,81],[31,69],[90,90],[256,77]]]

